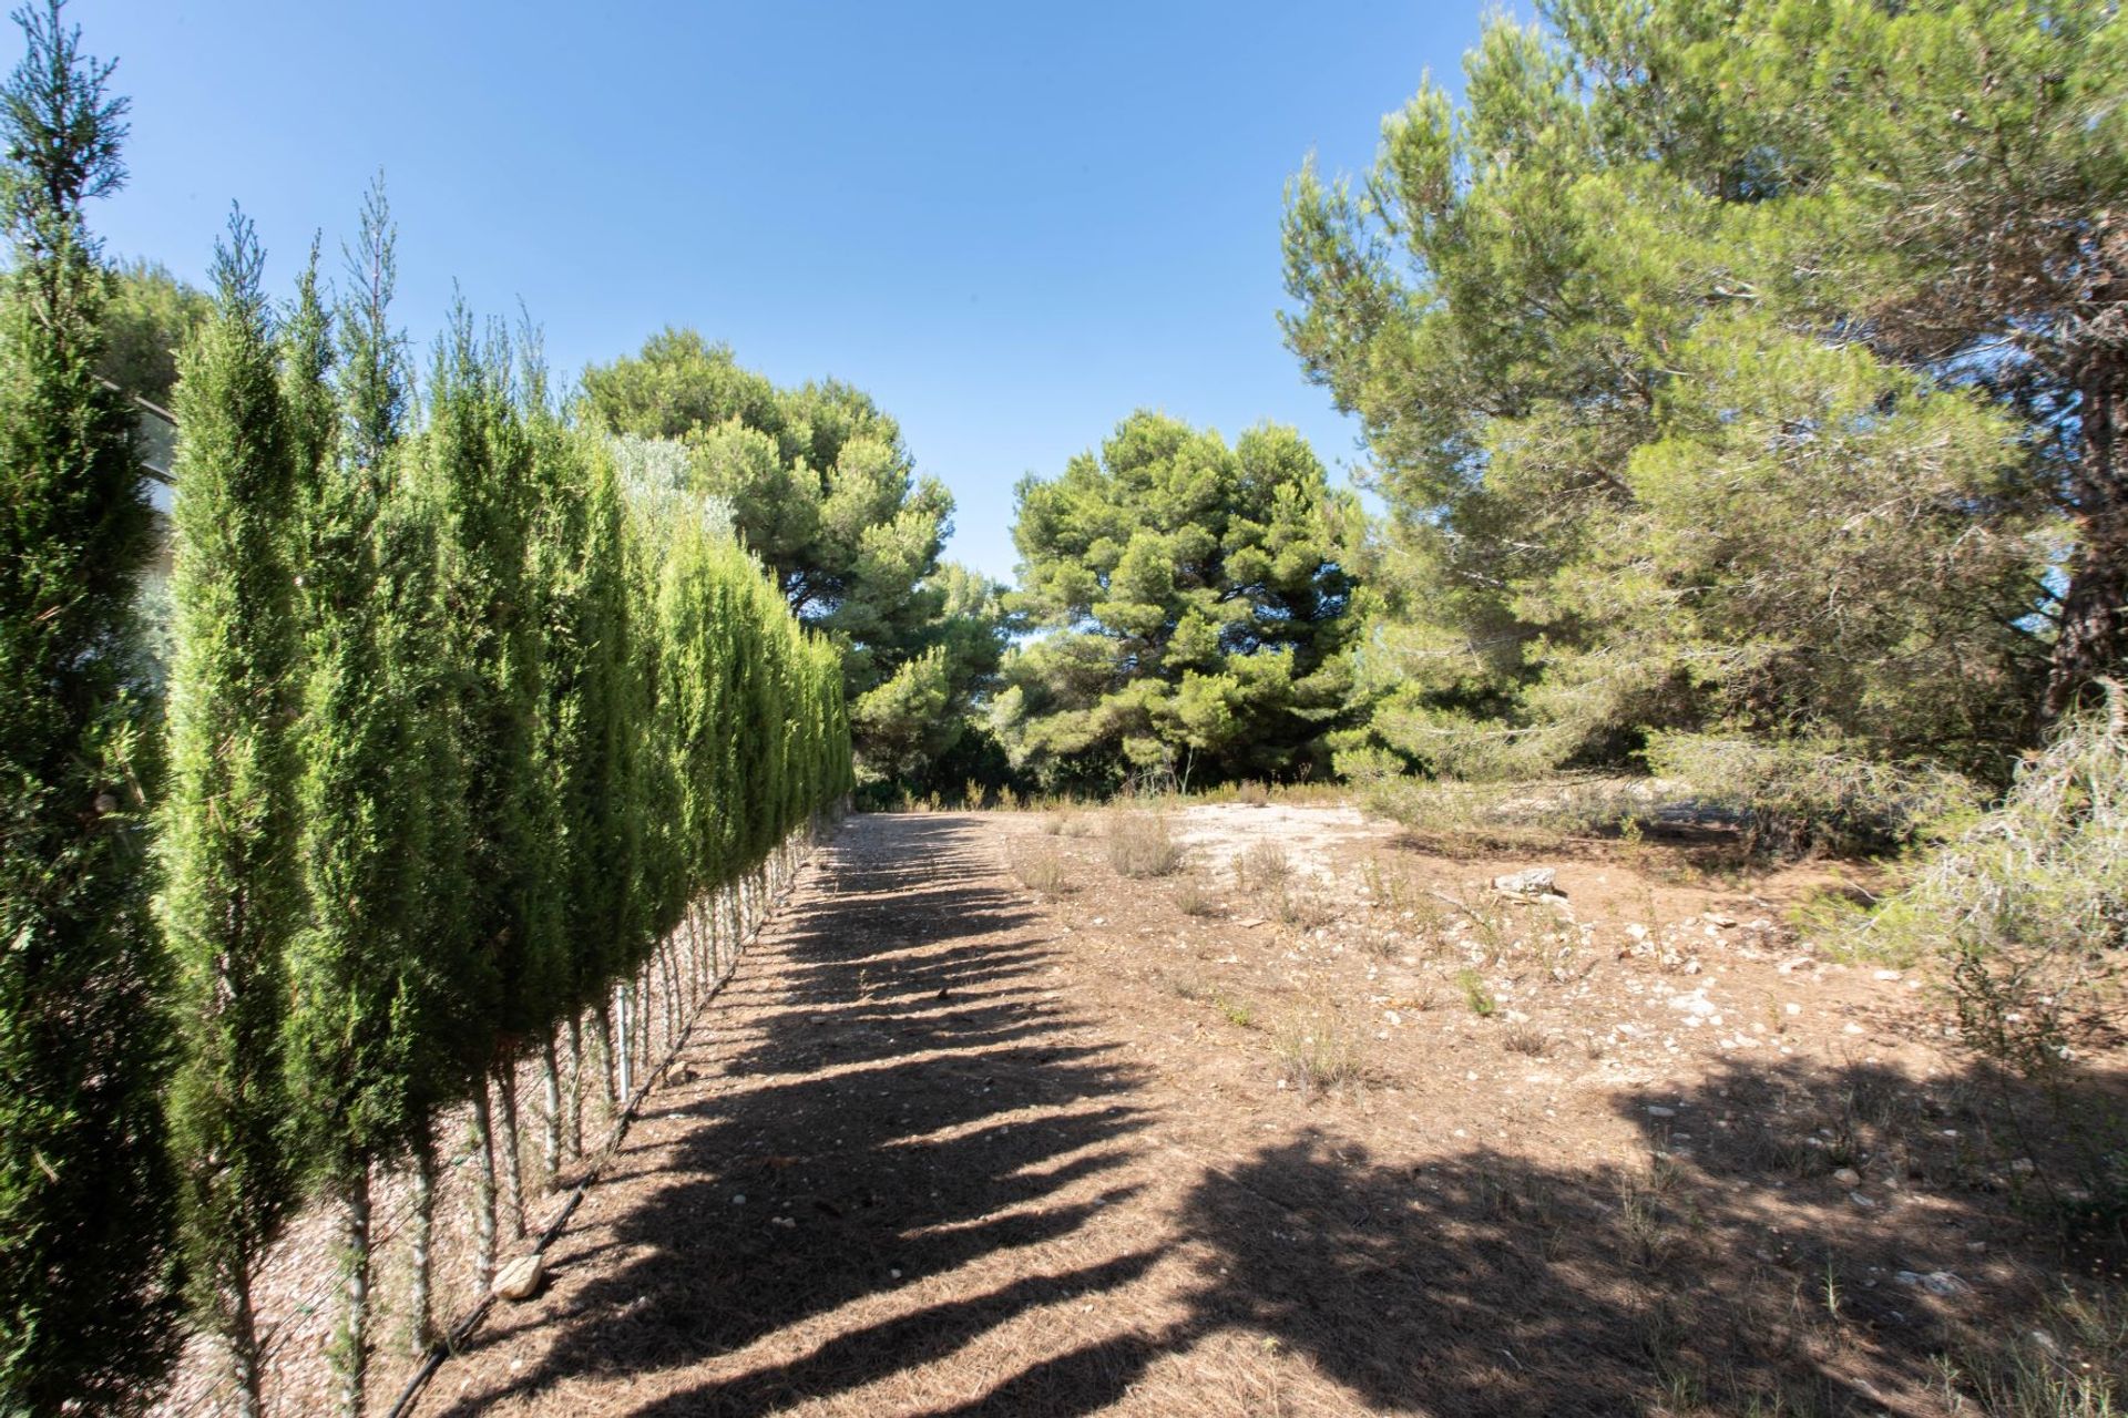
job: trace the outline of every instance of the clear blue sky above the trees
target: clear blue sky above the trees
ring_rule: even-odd
[[[1483,0],[462,4],[74,0],[134,100],[94,221],[200,281],[230,200],[279,289],[379,168],[400,315],[517,302],[558,374],[660,325],[894,412],[1013,570],[1011,487],[1132,408],[1356,432],[1279,342],[1279,191],[1362,168]]]

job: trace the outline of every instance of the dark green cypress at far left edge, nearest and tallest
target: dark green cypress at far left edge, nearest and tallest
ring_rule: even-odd
[[[49,4],[0,91],[0,1409],[121,1409],[170,1354],[132,617],[149,508],[98,376],[83,204],[123,181],[126,102]]]

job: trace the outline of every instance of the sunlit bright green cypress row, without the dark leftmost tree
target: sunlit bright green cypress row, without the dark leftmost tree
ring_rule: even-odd
[[[336,306],[315,249],[285,310],[260,268],[232,219],[174,400],[170,1131],[189,1297],[240,1409],[260,1259],[317,1191],[360,1414],[375,1171],[415,1178],[426,1339],[440,1114],[470,1103],[485,1290],[498,1225],[523,1231],[519,1059],[551,1178],[587,1054],[611,1108],[647,1059],[638,982],[670,1037],[847,793],[849,742],[834,648],[704,508],[630,506],[532,340],[455,310],[415,427],[379,193]]]

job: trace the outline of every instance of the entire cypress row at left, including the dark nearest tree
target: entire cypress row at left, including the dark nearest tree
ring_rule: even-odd
[[[632,493],[530,336],[455,310],[417,389],[375,193],[336,298],[313,249],[268,300],[240,217],[217,249],[151,668],[85,223],[126,104],[60,19],[21,17],[4,104],[0,1409],[136,1407],[183,1295],[257,1412],[260,1265],[323,1197],[360,1414],[377,1178],[413,1178],[428,1344],[445,1120],[470,1118],[485,1295],[521,1129],[545,1180],[583,1152],[585,1097],[626,1108],[849,793],[843,657],[719,506]]]

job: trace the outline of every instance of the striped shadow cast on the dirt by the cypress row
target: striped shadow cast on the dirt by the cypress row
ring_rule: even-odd
[[[894,835],[883,865],[864,850],[868,829]],[[753,1006],[749,1029],[713,1029],[692,1050],[734,1086],[698,1101],[653,1095],[647,1116],[700,1120],[677,1154],[638,1142],[606,1174],[655,1165],[677,1180],[596,1250],[562,1252],[562,1267],[596,1254],[609,1269],[577,1290],[558,1271],[566,1310],[526,1322],[558,1329],[543,1363],[447,1412],[568,1373],[687,1367],[970,1259],[1038,1246],[1126,1199],[1115,1186],[1051,1201],[1132,1157],[1136,1071],[1043,999],[1034,980],[1055,952],[1030,938],[1041,923],[983,865],[951,818],[860,818],[826,848],[828,891],[783,916],[781,978],[741,976],[728,995]],[[1000,931],[1019,944],[960,944]],[[628,1259],[613,1265],[611,1252]],[[911,1348],[1109,1290],[1151,1259],[1024,1280],[860,1331],[802,1371],[694,1395],[687,1412],[770,1412],[862,1384],[904,1365]],[[513,1333],[494,1327],[475,1344]]]

